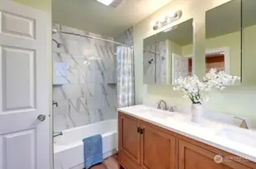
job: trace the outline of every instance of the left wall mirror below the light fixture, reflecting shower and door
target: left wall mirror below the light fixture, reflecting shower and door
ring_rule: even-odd
[[[192,74],[187,49],[193,46],[193,19],[143,40],[144,84],[172,84]]]

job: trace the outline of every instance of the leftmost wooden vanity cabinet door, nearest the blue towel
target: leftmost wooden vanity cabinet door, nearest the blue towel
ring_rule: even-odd
[[[140,123],[128,116],[119,116],[119,150],[140,164]]]

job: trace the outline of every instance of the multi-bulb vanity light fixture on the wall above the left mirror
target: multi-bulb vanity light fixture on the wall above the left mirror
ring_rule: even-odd
[[[156,21],[153,25],[153,29],[156,31],[157,29],[161,29],[164,26],[167,26],[170,23],[173,23],[174,21],[177,21],[182,16],[182,11],[175,12],[172,16],[165,16],[163,20]]]

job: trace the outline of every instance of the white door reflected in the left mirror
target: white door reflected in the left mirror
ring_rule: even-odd
[[[179,77],[189,75],[189,59],[172,53],[172,84]]]

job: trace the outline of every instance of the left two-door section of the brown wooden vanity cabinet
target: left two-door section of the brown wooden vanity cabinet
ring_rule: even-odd
[[[119,163],[125,169],[176,169],[175,141],[150,124],[119,113]]]

